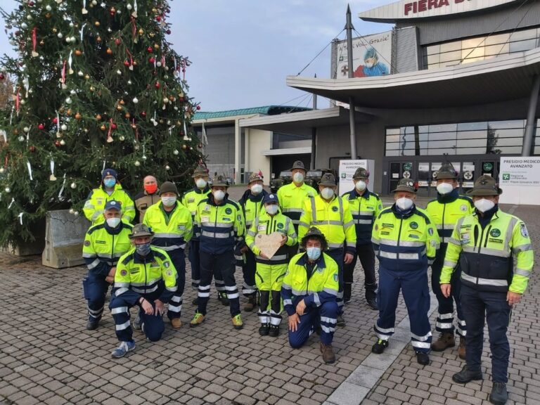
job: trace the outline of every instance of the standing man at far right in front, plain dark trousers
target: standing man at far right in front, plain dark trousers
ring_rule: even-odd
[[[482,380],[484,320],[489,330],[492,404],[506,404],[510,345],[506,330],[512,306],[520,302],[534,264],[527,226],[499,210],[503,191],[491,176],[480,176],[468,195],[475,213],[458,220],[448,243],[441,290],[451,294],[451,276],[461,266],[461,304],[467,323],[467,364],[452,376],[456,383]],[[514,265],[515,261],[515,265]]]

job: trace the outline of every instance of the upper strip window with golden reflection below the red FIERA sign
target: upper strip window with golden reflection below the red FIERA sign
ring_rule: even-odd
[[[540,29],[460,39],[423,47],[425,69],[445,68],[459,63],[495,58],[508,53],[528,51],[540,45]]]

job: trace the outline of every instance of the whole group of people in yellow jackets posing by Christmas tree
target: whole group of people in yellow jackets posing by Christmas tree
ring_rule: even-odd
[[[83,283],[86,327],[98,327],[113,283],[110,309],[120,340],[113,357],[134,349],[133,328],[141,328],[148,340],[159,340],[165,313],[172,328],[181,328],[188,248],[191,283],[198,292],[191,327],[207,317],[214,279],[219,301],[229,306],[233,328],[243,328],[235,279],[241,266],[243,309],[259,307],[259,335],[278,336],[284,310],[290,345],[301,347],[315,332],[323,361],[333,363],[333,335],[337,326],[345,326],[344,304],[352,298],[359,259],[366,304],[379,311],[372,352],[383,353],[389,345],[401,290],[418,363],[429,364],[430,350],[454,347],[457,331],[458,354],[466,366],[454,381],[480,379],[487,313],[494,366],[490,400],[504,404],[506,328],[511,306],[527,288],[533,252],[525,224],[499,210],[502,191],[494,179],[481,176],[468,193],[472,199],[464,197],[458,195],[454,167],[444,164],[437,175],[437,199],[425,210],[415,204],[411,179],[399,181],[392,191],[394,204],[383,209],[378,195],[368,190],[369,173],[364,168],[353,176],[354,189],[342,196],[336,193],[331,173],[323,174],[315,190],[304,183],[307,171],[301,161],[291,172],[293,182],[277,194],[264,191],[262,175],[252,174],[248,190],[236,202],[229,199],[226,178],[215,176],[210,183],[207,169],[200,166],[193,172],[194,187],[181,199],[173,183],[158,187],[156,179],[147,176],[144,191],[133,201],[122,190],[117,173],[105,169],[101,186],[84,206],[92,221],[83,249],[89,268]],[[132,226],[136,213],[139,224]],[[266,255],[258,242],[274,234],[277,250]],[[435,342],[428,319],[428,266],[439,303],[435,329],[440,335]],[[132,307],[139,307],[133,322]]]

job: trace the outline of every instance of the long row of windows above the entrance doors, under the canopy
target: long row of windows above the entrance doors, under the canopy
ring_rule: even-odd
[[[540,127],[540,120],[537,122]],[[386,156],[520,154],[525,120],[458,122],[392,127],[386,130]],[[535,152],[540,154],[540,131]]]

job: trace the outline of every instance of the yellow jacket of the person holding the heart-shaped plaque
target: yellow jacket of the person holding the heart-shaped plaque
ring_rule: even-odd
[[[279,232],[287,236],[285,245],[278,249],[276,254],[270,259],[263,259],[259,256],[261,250],[255,245],[257,235],[269,235],[270,233]],[[297,243],[296,231],[293,226],[293,221],[289,217],[285,217],[284,214],[278,212],[272,217],[266,211],[255,217],[255,220],[251,224],[250,229],[245,235],[245,244],[249,246],[251,251],[255,254],[255,261],[259,264],[272,265],[272,264],[285,264],[288,263],[287,246],[293,246]]]

